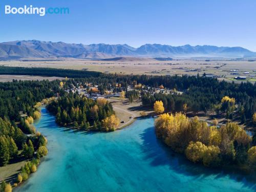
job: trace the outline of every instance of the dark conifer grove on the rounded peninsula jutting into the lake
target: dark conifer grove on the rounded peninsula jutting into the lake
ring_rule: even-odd
[[[104,123],[110,117],[115,118],[112,105],[105,98],[94,100],[66,92],[49,103],[47,109],[56,116],[56,122],[59,125],[91,131],[115,131],[117,127],[117,125],[108,126]],[[119,120],[114,120],[117,124],[119,123]]]

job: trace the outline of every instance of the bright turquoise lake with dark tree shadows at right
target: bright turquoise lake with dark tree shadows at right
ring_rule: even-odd
[[[45,108],[35,122],[48,156],[15,191],[255,191],[255,180],[205,168],[156,139],[154,119],[112,133],[58,127]]]

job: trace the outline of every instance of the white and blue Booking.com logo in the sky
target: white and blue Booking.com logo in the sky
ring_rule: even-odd
[[[5,14],[33,14],[33,15],[40,15],[45,16],[46,14],[69,14],[69,8],[59,8],[59,7],[33,7],[24,6],[24,7],[11,7],[10,5],[5,6]]]

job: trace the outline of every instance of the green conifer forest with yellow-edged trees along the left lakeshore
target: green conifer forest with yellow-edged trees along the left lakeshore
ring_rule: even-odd
[[[36,171],[40,157],[47,155],[47,139],[33,122],[40,118],[41,101],[52,97],[59,81],[16,81],[0,83],[0,166],[30,160],[31,171],[21,169],[17,182]],[[55,89],[56,88],[56,89]],[[2,182],[2,189],[10,187]]]

